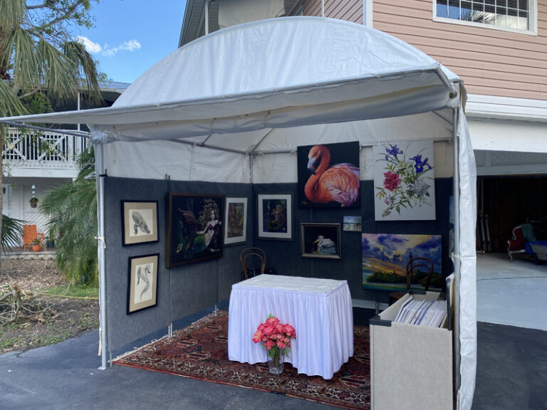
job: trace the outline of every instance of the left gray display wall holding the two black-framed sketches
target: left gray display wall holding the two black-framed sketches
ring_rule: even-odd
[[[105,250],[108,347],[116,349],[167,326],[170,322],[229,298],[231,285],[241,280],[239,253],[247,244],[226,246],[223,256],[212,261],[165,268],[167,194],[222,194],[245,196],[252,207],[249,184],[173,182],[125,178],[105,178]],[[157,243],[122,246],[121,201],[158,201]],[[224,218],[224,216],[223,216]],[[251,218],[247,219],[248,224]],[[247,243],[251,228],[247,227]],[[157,305],[127,315],[128,263],[133,256],[160,253]]]

